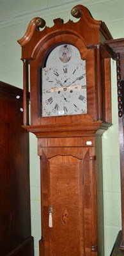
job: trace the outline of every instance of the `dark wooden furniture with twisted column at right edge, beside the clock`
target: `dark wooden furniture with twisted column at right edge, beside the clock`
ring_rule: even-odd
[[[121,227],[111,256],[124,255],[124,38],[105,42],[116,60],[116,76],[118,90],[118,124],[120,143],[120,175],[121,175]]]

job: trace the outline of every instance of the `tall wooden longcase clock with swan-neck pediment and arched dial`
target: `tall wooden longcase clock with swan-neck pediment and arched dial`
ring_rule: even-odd
[[[38,138],[41,163],[40,256],[97,256],[101,250],[95,145],[111,126],[111,54],[104,41],[112,36],[86,7],[75,6],[72,15],[80,19],[54,19],[52,28],[36,17],[18,40],[24,62],[24,128]]]

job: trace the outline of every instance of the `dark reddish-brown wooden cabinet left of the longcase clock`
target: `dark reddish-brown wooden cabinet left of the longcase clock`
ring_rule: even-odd
[[[22,129],[22,90],[0,82],[0,255],[33,256],[29,134]]]

